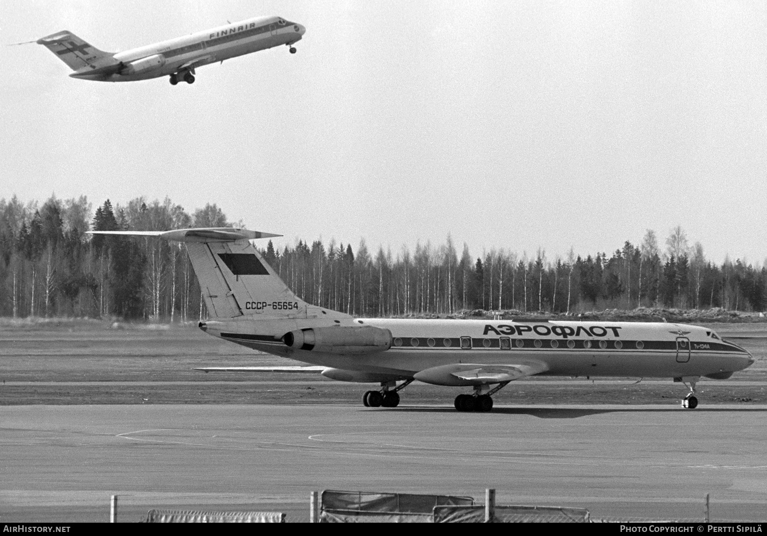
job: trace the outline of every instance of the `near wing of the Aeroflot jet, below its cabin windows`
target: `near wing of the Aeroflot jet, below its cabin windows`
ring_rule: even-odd
[[[421,370],[413,375],[416,380],[435,385],[482,385],[518,380],[548,370],[538,360],[525,360],[509,364],[452,363]]]

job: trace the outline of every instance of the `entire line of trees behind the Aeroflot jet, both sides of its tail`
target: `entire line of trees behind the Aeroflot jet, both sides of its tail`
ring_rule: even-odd
[[[181,244],[156,238],[86,235],[93,230],[162,231],[229,225],[216,205],[191,215],[170,199],[138,197],[113,207],[51,197],[41,206],[0,199],[0,315],[123,317],[167,321],[206,317],[199,285]],[[617,307],[723,307],[762,311],[767,268],[706,259],[680,227],[661,248],[647,230],[639,245],[607,253],[550,258],[492,249],[478,258],[452,238],[393,254],[331,240],[298,241],[266,260],[302,299],[349,314],[400,316],[462,310],[574,313]]]

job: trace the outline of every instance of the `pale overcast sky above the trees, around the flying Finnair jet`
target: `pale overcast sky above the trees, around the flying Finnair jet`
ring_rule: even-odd
[[[610,254],[676,225],[767,256],[765,2],[7,0],[3,44],[104,51],[258,15],[296,46],[104,83],[2,47],[0,197],[217,203],[250,229],[357,248],[448,233],[472,255]],[[279,245],[280,242],[278,242]]]

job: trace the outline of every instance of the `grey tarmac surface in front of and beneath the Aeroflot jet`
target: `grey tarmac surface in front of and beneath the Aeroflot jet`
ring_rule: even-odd
[[[0,406],[0,521],[285,511],[311,491],[471,495],[592,518],[767,520],[767,405]]]

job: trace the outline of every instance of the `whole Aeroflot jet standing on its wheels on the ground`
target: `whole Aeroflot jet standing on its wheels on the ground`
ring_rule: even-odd
[[[492,394],[512,380],[550,376],[666,377],[695,385],[749,367],[751,354],[706,327],[684,324],[568,321],[354,318],[293,294],[245,229],[94,234],[159,236],[186,242],[210,320],[206,333],[315,367],[215,367],[200,370],[317,370],[334,380],[379,383],[365,406],[394,407],[413,380],[472,387],[459,411],[489,411]],[[402,382],[402,383],[397,383]]]

